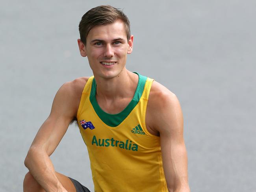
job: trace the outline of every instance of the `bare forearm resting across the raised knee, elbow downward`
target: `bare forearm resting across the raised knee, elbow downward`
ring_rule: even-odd
[[[30,149],[24,164],[46,192],[63,191],[64,188],[55,174],[52,161],[45,151]]]

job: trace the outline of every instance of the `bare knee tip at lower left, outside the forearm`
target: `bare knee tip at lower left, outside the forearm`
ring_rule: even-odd
[[[24,177],[24,181],[23,181],[23,191],[24,192],[32,192],[32,191],[45,191],[43,190],[43,188],[41,187],[41,185],[39,185],[39,183],[37,183],[37,181],[34,179],[33,175],[28,172],[25,177]]]

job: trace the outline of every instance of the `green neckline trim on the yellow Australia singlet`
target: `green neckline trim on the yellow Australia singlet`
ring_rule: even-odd
[[[95,97],[97,85],[96,85],[95,78],[93,78],[93,82],[92,82],[92,86],[91,86],[91,94],[90,94],[91,104],[93,105],[93,108],[94,108],[95,112],[97,113],[97,115],[99,116],[99,118],[106,125],[108,125],[110,127],[116,127],[119,124],[121,124],[121,122],[131,113],[132,109],[134,109],[134,107],[137,105],[137,103],[139,102],[139,100],[141,98],[147,77],[142,76],[136,72],[134,72],[134,73],[139,76],[139,82],[138,82],[134,97],[132,98],[131,102],[127,105],[127,107],[123,111],[121,111],[120,113],[117,113],[117,114],[106,113],[105,111],[103,111],[100,108],[100,106],[98,105],[98,102],[96,100],[96,97]]]

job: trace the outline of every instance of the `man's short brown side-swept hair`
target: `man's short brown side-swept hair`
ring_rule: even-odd
[[[130,21],[128,17],[120,10],[112,6],[98,6],[87,11],[80,23],[79,23],[79,33],[80,39],[83,44],[86,44],[86,38],[89,31],[97,25],[106,25],[121,19],[126,26],[126,36],[127,41],[129,41],[130,32]]]

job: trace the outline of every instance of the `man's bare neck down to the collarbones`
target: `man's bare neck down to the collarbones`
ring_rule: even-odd
[[[128,71],[126,68],[111,79],[102,79],[95,77],[97,83],[96,96],[103,100],[115,100],[121,98],[131,98],[138,83],[138,75]]]

